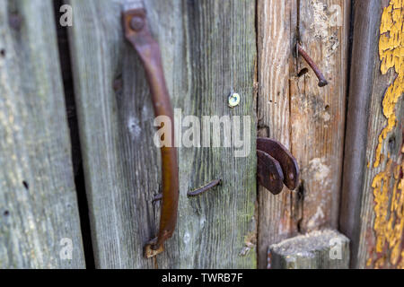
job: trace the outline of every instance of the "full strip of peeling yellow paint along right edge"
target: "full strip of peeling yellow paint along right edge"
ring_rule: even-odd
[[[379,136],[374,168],[379,167],[386,157],[382,153],[382,146],[387,136],[397,126],[395,109],[404,92],[403,10],[404,0],[391,0],[382,13],[379,41],[381,72],[387,74],[391,68],[394,68],[397,77],[382,100],[382,111],[387,118],[387,125]],[[385,169],[373,178],[375,247],[366,262],[367,266],[383,268],[390,263],[392,266],[404,268],[404,180],[402,177],[404,163],[402,159],[402,153],[397,161],[393,161],[391,155],[387,154]]]

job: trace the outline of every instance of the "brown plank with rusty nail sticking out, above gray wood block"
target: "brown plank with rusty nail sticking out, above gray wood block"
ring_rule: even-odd
[[[301,231],[338,227],[339,192],[347,99],[350,1],[301,1],[303,48],[329,82],[323,88],[312,73],[295,82],[292,94],[292,151],[302,169]],[[299,69],[307,66],[299,57]],[[302,140],[303,139],[303,140]]]

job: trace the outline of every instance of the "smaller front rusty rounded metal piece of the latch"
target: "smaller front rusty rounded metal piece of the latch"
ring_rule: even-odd
[[[257,150],[257,175],[259,184],[267,188],[273,195],[279,194],[284,188],[284,172],[279,161],[267,152]]]

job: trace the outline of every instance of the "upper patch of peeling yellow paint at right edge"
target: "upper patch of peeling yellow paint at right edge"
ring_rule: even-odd
[[[397,78],[386,91],[382,101],[383,115],[387,118],[387,126],[379,136],[376,148],[374,167],[379,167],[382,161],[382,145],[387,135],[396,126],[396,105],[404,92],[404,0],[391,0],[384,8],[380,27],[379,56],[382,61],[381,72],[394,68]]]

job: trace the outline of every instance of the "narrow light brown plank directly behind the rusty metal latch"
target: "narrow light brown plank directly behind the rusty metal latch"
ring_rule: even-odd
[[[258,128],[290,149],[290,89],[296,1],[258,1]],[[274,196],[259,187],[259,268],[267,267],[270,244],[297,233],[287,190]]]

